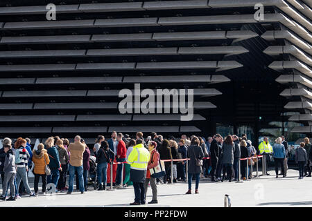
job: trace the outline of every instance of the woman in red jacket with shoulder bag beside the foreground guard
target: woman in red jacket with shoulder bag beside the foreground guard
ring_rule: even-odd
[[[150,151],[150,160],[148,162],[148,168],[146,172],[146,179],[144,182],[144,189],[145,189],[145,198],[148,189],[148,183],[150,182],[150,186],[152,187],[153,191],[153,199],[152,201],[148,202],[148,204],[155,204],[158,203],[157,201],[157,186],[156,186],[156,178],[150,176],[150,169],[158,166],[159,164],[159,153],[156,151],[157,143],[154,141],[150,141],[148,143],[148,151]]]

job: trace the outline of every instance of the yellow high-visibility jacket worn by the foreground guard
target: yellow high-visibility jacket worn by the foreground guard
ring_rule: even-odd
[[[150,152],[144,147],[144,144],[133,146],[133,150],[128,156],[127,162],[131,169],[144,171],[147,169],[150,160]]]

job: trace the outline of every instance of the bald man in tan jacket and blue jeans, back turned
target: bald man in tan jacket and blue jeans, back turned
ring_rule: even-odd
[[[67,194],[73,191],[73,177],[77,171],[79,179],[79,190],[85,193],[85,186],[83,182],[83,152],[85,152],[85,144],[80,142],[81,137],[76,136],[74,142],[69,144],[68,151],[71,155],[69,159],[69,188]]]

